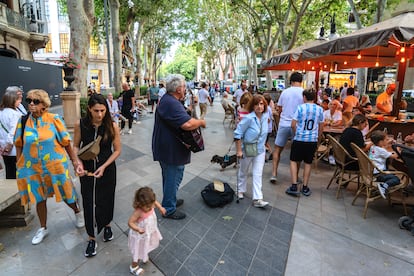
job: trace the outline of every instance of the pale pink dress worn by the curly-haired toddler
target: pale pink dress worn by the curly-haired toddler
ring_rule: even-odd
[[[132,229],[129,229],[128,247],[131,250],[133,261],[142,260],[148,261],[148,253],[158,247],[162,236],[157,226],[157,215],[154,208],[136,222],[136,225],[145,229],[144,234],[140,234]]]

